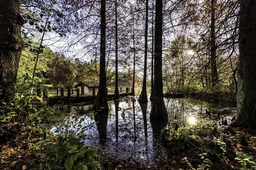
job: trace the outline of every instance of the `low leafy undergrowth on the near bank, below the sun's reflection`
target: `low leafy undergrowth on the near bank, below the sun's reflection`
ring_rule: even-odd
[[[186,155],[182,161],[189,168],[211,169],[212,161],[225,157],[226,145],[220,140],[218,127],[211,121],[198,120],[195,125],[176,121],[173,125],[164,129],[165,145],[172,155]]]

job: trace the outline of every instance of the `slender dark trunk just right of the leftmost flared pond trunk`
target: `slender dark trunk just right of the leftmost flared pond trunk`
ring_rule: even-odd
[[[115,96],[114,96],[114,99],[119,99],[120,96],[119,96],[119,91],[118,91],[118,34],[117,34],[117,30],[118,30],[118,27],[117,27],[117,2],[115,0],[115,26],[116,26],[116,30],[115,30],[115,40],[116,40],[116,60],[115,60],[115,64],[116,64],[116,77],[115,77]]]

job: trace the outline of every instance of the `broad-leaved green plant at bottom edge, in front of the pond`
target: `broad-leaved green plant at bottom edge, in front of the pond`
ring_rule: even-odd
[[[47,169],[100,169],[99,156],[95,150],[80,140],[81,138],[67,138],[67,134],[62,134],[60,142],[52,146],[46,160]]]

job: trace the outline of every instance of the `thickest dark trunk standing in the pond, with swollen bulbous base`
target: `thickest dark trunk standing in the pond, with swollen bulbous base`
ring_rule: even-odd
[[[163,1],[156,0],[155,57],[154,57],[154,100],[150,114],[153,131],[167,125],[168,115],[163,99],[162,73]]]

